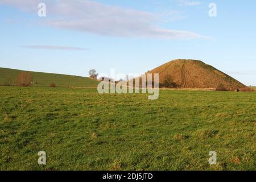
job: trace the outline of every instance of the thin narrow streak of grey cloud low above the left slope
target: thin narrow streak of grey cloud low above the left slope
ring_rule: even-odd
[[[65,51],[88,51],[88,48],[81,47],[65,47],[65,46],[46,46],[46,45],[32,45],[32,46],[21,46],[28,49],[47,49],[47,50],[65,50]]]

